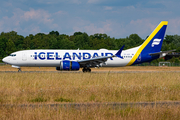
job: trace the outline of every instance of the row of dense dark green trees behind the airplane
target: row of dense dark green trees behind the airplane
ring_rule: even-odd
[[[2,32],[0,34],[0,58],[12,52],[29,49],[109,49],[118,50],[123,45],[129,49],[141,45],[144,39],[138,34],[131,34],[126,38],[112,38],[107,34],[88,35],[83,32],[75,32],[73,35],[60,34],[51,31],[49,34],[38,33],[29,36],[18,35],[17,32]],[[180,52],[180,36],[166,35],[162,45],[162,51],[176,49]]]

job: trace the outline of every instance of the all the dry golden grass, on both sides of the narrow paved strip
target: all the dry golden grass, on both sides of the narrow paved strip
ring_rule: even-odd
[[[17,71],[0,66],[0,71]],[[55,71],[55,68],[22,68]],[[1,104],[72,102],[148,102],[180,100],[180,67],[100,68],[94,71],[161,71],[149,73],[0,73]],[[92,71],[93,71],[92,70]],[[164,72],[162,72],[164,71]],[[112,109],[5,108],[0,119],[179,119],[180,108]]]

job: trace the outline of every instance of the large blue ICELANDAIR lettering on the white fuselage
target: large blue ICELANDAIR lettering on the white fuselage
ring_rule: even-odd
[[[90,59],[90,58],[95,58],[98,56],[111,56],[113,55],[112,53],[100,53],[100,55],[98,53],[93,53],[92,55],[88,52],[84,52],[84,53],[72,53],[72,55],[70,55],[70,53],[66,52],[64,53],[64,55],[60,56],[60,54],[58,52],[34,52],[34,60],[40,59],[40,60],[81,60],[81,59]],[[113,60],[112,58],[110,58],[111,60]]]

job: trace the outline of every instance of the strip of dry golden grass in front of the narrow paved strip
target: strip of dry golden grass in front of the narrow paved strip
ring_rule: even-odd
[[[179,107],[143,108],[1,108],[0,119],[9,120],[179,120]]]

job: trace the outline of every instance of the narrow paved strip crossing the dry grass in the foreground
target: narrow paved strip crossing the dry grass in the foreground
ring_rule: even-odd
[[[104,103],[56,103],[56,104],[1,104],[0,108],[83,108],[83,107],[113,107],[113,108],[126,108],[126,107],[163,107],[163,106],[180,106],[180,101],[175,102],[135,102],[135,103],[121,103],[121,102],[104,102]]]

